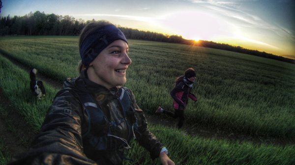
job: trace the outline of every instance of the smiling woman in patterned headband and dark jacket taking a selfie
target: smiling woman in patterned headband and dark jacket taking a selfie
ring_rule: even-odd
[[[151,159],[174,165],[149,132],[131,90],[121,86],[131,64],[128,49],[113,24],[88,24],[79,39],[80,76],[65,81],[29,151],[13,157],[10,165],[122,165],[133,138]]]

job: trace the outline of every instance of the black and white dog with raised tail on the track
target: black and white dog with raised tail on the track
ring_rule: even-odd
[[[29,78],[30,78],[30,89],[34,96],[36,96],[38,99],[41,99],[45,96],[46,91],[43,86],[43,82],[36,79],[37,69],[33,68],[29,72]]]

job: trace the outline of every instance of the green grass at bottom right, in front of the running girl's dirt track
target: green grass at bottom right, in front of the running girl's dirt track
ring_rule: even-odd
[[[295,146],[253,145],[248,142],[228,142],[214,138],[184,135],[176,129],[152,126],[151,132],[167,144],[169,157],[176,165],[292,165],[295,163]],[[150,161],[146,150],[132,143],[127,165],[159,165]]]

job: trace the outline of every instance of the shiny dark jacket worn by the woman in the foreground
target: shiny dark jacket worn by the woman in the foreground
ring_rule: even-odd
[[[83,136],[89,131],[89,117],[79,100],[79,93],[90,93],[101,107],[108,113],[108,120],[117,120],[122,117],[122,108],[118,106],[118,89],[111,90],[89,81],[85,73],[58,92],[46,115],[39,134],[33,140],[31,147],[25,154],[13,157],[10,164],[30,165],[120,165],[122,164],[122,150],[96,151]],[[128,90],[131,100],[130,108],[134,111],[133,117],[126,118],[117,129],[112,130],[114,136],[126,139],[127,143],[133,138],[130,136],[128,123],[136,122],[138,128],[132,132],[141,146],[146,148],[151,159],[159,156],[163,145],[149,132],[148,123],[143,111],[136,104],[134,95]],[[130,121],[133,120],[133,121]],[[95,130],[104,130],[105,126],[91,127]],[[90,131],[91,131],[90,130]],[[98,131],[99,132],[99,131]],[[99,134],[99,133],[98,133]]]

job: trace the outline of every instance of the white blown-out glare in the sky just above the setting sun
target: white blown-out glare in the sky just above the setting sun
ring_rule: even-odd
[[[195,41],[214,40],[219,36],[233,35],[226,21],[201,11],[174,12],[166,15],[160,23],[171,32]]]

